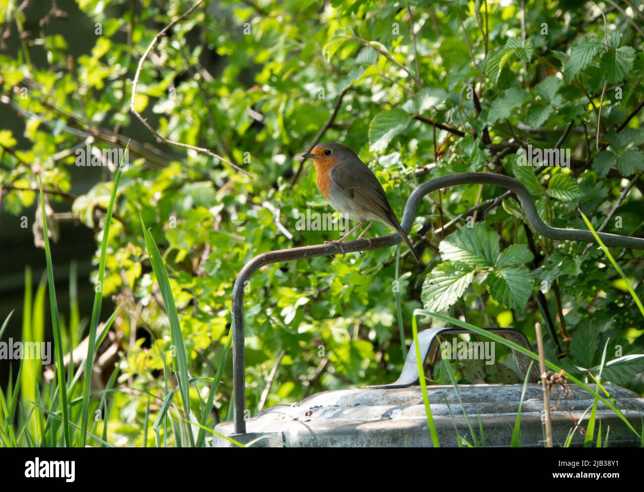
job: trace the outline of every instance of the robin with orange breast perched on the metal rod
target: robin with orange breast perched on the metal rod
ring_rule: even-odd
[[[358,225],[345,236],[339,240],[327,242],[338,244],[342,249],[343,241],[356,229],[370,221],[358,236],[358,239],[362,239],[365,232],[377,220],[398,232],[412,251],[413,257],[420,263],[421,260],[413,249],[412,241],[409,240],[396,214],[393,213],[378,178],[354,151],[343,144],[328,142],[319,144],[302,157],[313,159],[317,171],[317,187],[325,200],[339,213],[346,214],[350,220],[358,221]]]

